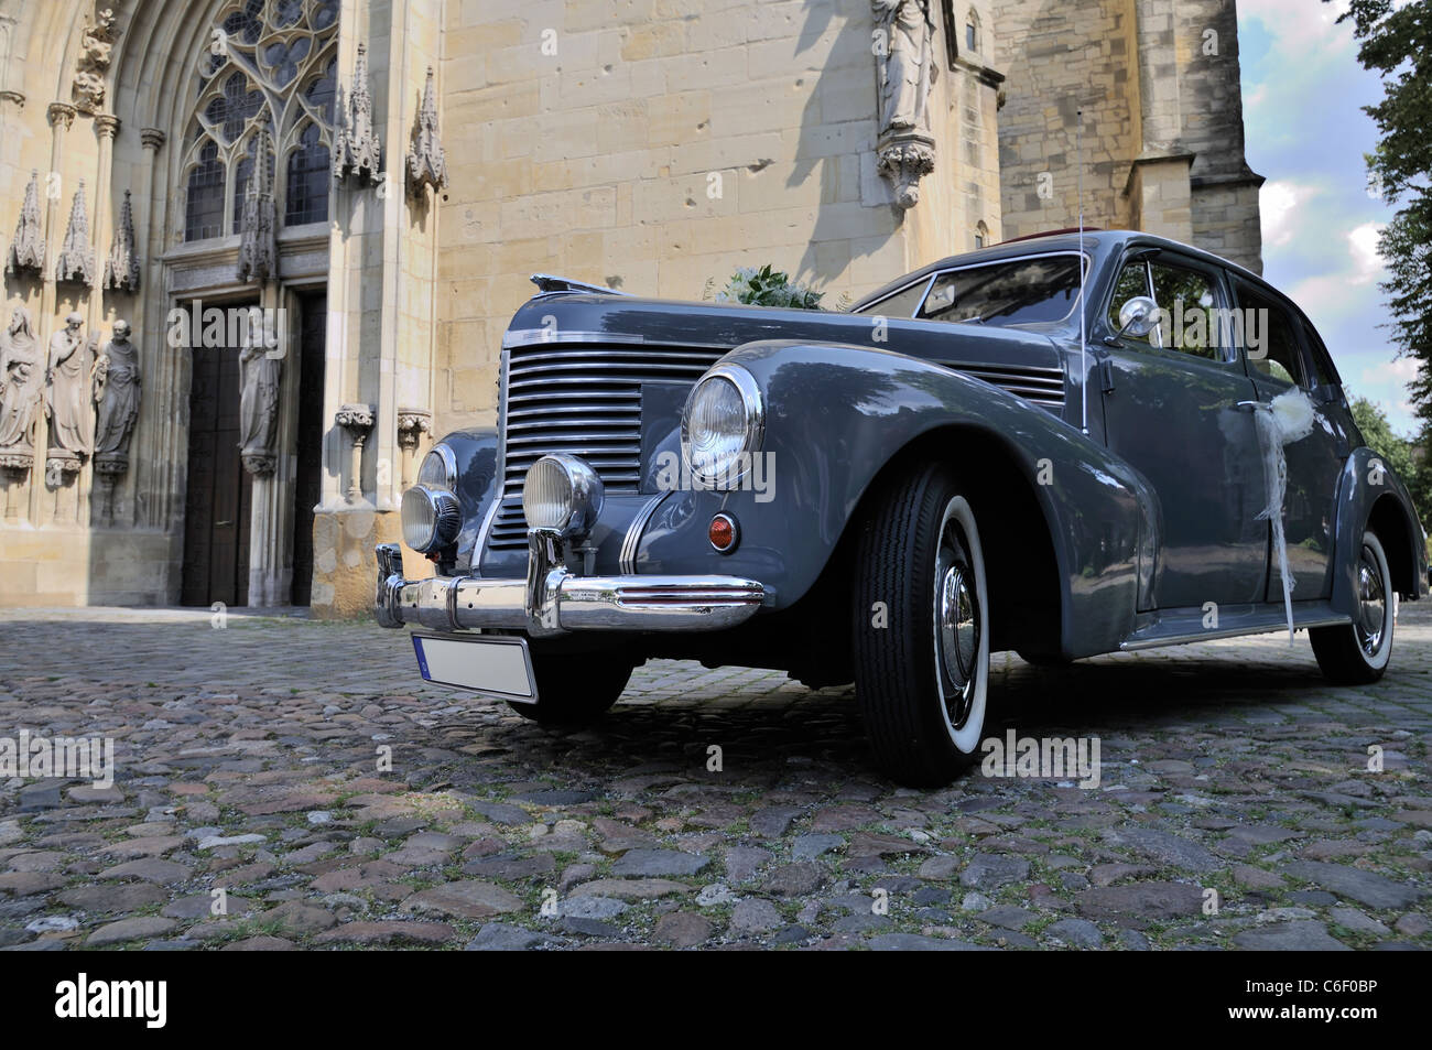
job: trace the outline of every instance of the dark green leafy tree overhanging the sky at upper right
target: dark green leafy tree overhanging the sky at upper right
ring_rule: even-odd
[[[1399,354],[1419,362],[1412,400],[1432,421],[1432,3],[1350,0],[1337,20],[1352,21],[1358,62],[1382,77],[1382,102],[1365,107],[1379,138],[1369,183],[1400,205],[1378,241],[1389,272],[1382,289]]]

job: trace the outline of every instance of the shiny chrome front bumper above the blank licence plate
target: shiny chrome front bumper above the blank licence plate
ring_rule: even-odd
[[[533,529],[527,579],[402,577],[395,543],[378,544],[378,623],[432,630],[508,627],[533,637],[569,630],[722,630],[750,619],[766,597],[736,576],[574,576],[561,540]]]

